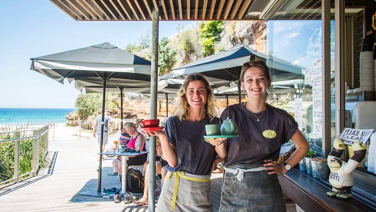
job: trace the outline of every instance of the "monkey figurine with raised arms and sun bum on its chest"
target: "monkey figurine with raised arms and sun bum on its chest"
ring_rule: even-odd
[[[365,156],[365,147],[357,141],[352,144],[354,155],[348,159],[347,163],[340,159],[345,146],[341,139],[334,140],[333,149],[328,156],[328,166],[330,168],[329,182],[332,191],[326,192],[328,196],[336,196],[339,199],[349,199],[352,197],[351,187],[354,185],[354,171],[357,165]]]

